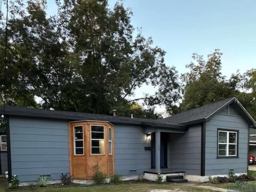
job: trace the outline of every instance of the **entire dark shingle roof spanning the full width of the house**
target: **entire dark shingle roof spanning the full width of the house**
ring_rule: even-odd
[[[30,116],[30,117],[44,117],[44,118],[59,118],[67,119],[69,121],[83,121],[83,120],[94,120],[94,121],[108,121],[111,123],[124,123],[124,124],[135,124],[143,126],[154,126],[154,127],[170,127],[170,128],[184,128],[185,125],[203,123],[209,121],[211,117],[219,110],[234,103],[236,109],[245,120],[254,127],[256,126],[253,118],[248,114],[244,107],[239,103],[236,98],[228,98],[222,101],[218,101],[209,105],[198,107],[185,111],[183,113],[173,115],[164,119],[145,119],[145,118],[131,118],[131,117],[119,117],[110,115],[99,115],[89,113],[78,113],[71,111],[58,111],[58,110],[43,110],[43,109],[31,109],[26,107],[14,107],[5,106],[6,115],[18,115],[18,116]],[[0,113],[3,114],[3,106],[0,106]]]

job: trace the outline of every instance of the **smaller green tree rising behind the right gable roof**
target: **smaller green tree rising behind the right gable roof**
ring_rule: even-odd
[[[238,75],[229,80],[221,74],[221,55],[219,50],[209,54],[207,61],[202,55],[193,54],[197,64],[191,62],[186,67],[190,71],[182,75],[183,101],[180,105],[182,111],[201,107],[238,94]],[[238,78],[238,79],[237,79]]]

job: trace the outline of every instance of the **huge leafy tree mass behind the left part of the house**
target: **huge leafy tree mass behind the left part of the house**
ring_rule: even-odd
[[[180,98],[177,71],[167,67],[165,52],[139,31],[134,36],[132,12],[122,3],[114,9],[106,0],[58,2],[55,17],[44,4],[29,1],[26,9],[13,0],[17,17],[9,20],[7,103],[27,107],[130,116],[133,102],[147,105],[141,117],[153,117],[155,105],[170,113]],[[0,67],[4,64],[5,31],[0,37]],[[130,99],[144,84],[154,95]],[[1,95],[3,95],[3,87]],[[36,103],[40,98],[42,103]]]

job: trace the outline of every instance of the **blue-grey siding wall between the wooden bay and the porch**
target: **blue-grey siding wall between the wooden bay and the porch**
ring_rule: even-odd
[[[115,171],[119,175],[142,174],[150,169],[150,141],[140,126],[115,125]]]

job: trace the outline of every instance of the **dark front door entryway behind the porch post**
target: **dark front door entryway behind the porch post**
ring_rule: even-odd
[[[160,145],[160,166],[161,168],[167,168],[167,141],[168,133],[161,133],[161,145]],[[151,134],[151,169],[156,167],[156,141],[155,133]]]

